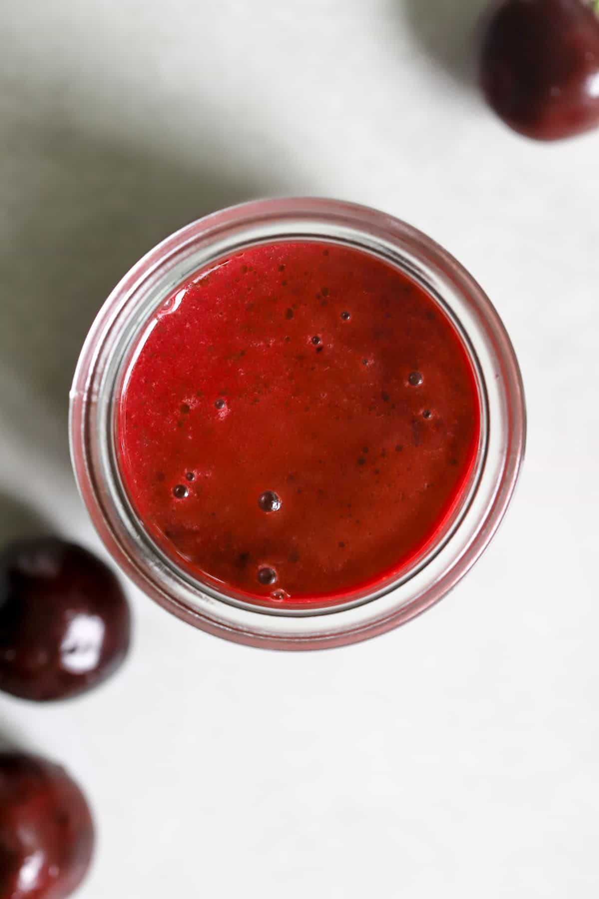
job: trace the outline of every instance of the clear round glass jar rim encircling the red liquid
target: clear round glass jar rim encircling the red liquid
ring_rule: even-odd
[[[347,602],[260,606],[200,583],[145,532],[119,473],[115,402],[141,330],[195,272],[249,246],[346,245],[416,280],[450,318],[475,373],[480,441],[467,489],[434,544],[389,582]],[[75,371],[70,440],[77,484],[112,556],[142,589],[198,628],[251,645],[316,648],[374,636],[440,599],[489,542],[524,453],[524,392],[509,338],[489,299],[453,257],[398,219],[334,200],[261,200],[184,227],[128,272],[97,317]]]

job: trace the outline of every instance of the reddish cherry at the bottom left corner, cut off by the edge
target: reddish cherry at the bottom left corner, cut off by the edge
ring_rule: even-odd
[[[92,815],[66,770],[0,752],[0,897],[65,899],[93,849]]]

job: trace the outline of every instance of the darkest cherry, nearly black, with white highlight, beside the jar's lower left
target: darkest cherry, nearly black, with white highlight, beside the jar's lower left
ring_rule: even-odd
[[[86,549],[44,538],[0,554],[0,690],[37,700],[90,690],[119,667],[129,635],[119,581]]]

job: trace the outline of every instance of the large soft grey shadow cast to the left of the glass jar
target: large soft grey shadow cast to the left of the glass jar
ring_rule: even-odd
[[[84,336],[110,290],[173,230],[277,187],[245,174],[230,154],[224,171],[207,142],[186,165],[149,142],[92,133],[52,109],[51,95],[40,102],[25,93],[4,111],[0,148],[8,197],[0,245],[0,417],[68,466],[68,390]]]

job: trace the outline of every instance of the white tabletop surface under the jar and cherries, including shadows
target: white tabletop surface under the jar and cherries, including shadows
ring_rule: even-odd
[[[0,733],[92,801],[81,899],[598,894],[599,133],[542,146],[491,116],[462,77],[481,3],[4,0],[4,534],[18,497],[98,548],[66,454],[86,327],[158,238],[249,197],[358,200],[436,237],[504,317],[530,414],[504,527],[409,626],[270,654],[131,590],[118,677],[0,699]]]

